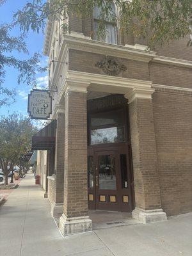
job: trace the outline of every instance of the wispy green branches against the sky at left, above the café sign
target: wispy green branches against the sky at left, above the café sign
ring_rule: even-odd
[[[6,0],[0,0],[0,6]],[[3,86],[4,77],[6,75],[6,68],[13,67],[19,71],[17,83],[26,83],[28,85],[36,84],[36,70],[44,72],[45,68],[40,68],[38,65],[40,61],[40,54],[35,53],[28,60],[16,58],[15,52],[24,52],[28,54],[26,42],[24,41],[25,34],[20,36],[11,36],[12,29],[17,24],[0,24],[0,108],[3,105],[10,105],[14,99],[16,92]]]

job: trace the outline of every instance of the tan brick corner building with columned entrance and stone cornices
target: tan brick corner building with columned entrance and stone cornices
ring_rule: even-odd
[[[143,223],[192,209],[188,39],[145,51],[108,24],[100,42],[98,12],[69,17],[69,35],[58,21],[45,33],[56,125],[32,148],[46,150],[42,184],[64,235],[92,230],[89,209],[132,212]]]

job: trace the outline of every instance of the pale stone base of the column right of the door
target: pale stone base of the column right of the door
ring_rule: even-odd
[[[167,220],[163,209],[143,210],[136,208],[132,211],[132,218],[142,221],[143,224]]]

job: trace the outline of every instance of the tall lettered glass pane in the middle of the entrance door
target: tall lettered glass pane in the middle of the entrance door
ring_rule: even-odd
[[[98,157],[99,189],[116,189],[115,156]]]

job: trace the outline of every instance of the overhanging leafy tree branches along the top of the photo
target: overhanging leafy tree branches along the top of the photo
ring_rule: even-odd
[[[113,12],[115,3],[120,12]],[[147,38],[148,45],[169,44],[191,33],[191,0],[33,0],[15,13],[15,22],[22,31],[39,32],[45,28],[46,19],[63,20],[63,31],[67,28],[68,15],[91,17],[93,7],[102,10],[99,17],[99,36],[104,36],[106,20],[119,22],[125,33],[137,38]],[[187,42],[186,42],[187,44]],[[189,38],[188,45],[191,45]]]

